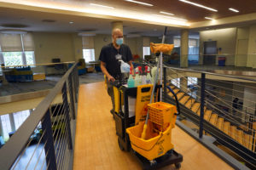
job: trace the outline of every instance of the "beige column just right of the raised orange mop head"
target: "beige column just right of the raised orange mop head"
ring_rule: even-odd
[[[189,66],[189,30],[181,31],[180,67]]]

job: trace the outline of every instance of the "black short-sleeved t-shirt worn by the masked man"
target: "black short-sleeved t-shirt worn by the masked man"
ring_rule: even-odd
[[[113,43],[102,48],[99,59],[106,63],[106,69],[112,77],[117,77],[120,73],[119,61],[116,59],[116,55],[120,54],[123,61],[129,62],[132,59],[130,48],[122,44],[119,49],[113,47]]]

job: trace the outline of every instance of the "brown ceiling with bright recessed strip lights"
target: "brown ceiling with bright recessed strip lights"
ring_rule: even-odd
[[[111,14],[131,13],[133,16],[144,15],[148,18],[154,18],[153,14],[160,14],[160,11],[175,14],[173,17],[188,20],[188,23],[197,23],[206,21],[205,17],[211,17],[216,20],[226,17],[237,16],[241,14],[256,13],[255,0],[189,0],[194,3],[201,3],[209,8],[215,8],[218,12],[207,10],[206,8],[195,7],[179,0],[138,0],[144,3],[151,3],[154,6],[148,7],[137,3],[127,2],[125,0],[3,0],[1,2],[16,3],[20,5],[29,5],[32,7],[40,7],[38,9],[26,9],[19,7],[12,8],[1,7],[0,4],[0,30],[5,29],[4,24],[24,24],[27,27],[22,28],[26,31],[61,31],[61,32],[81,32],[86,30],[95,30],[94,33],[107,34],[111,31],[111,22],[119,19],[112,18],[94,18],[93,15],[86,16],[74,14],[73,11],[87,12],[88,8],[92,8],[90,3],[102,4],[113,7],[114,9],[106,9],[102,7],[94,7],[98,11]],[[42,8],[52,8],[55,11],[42,10]],[[240,12],[234,13],[228,8],[236,8]],[[64,9],[70,12],[61,14],[57,9]],[[44,11],[44,12],[43,12]],[[166,15],[166,14],[160,14]],[[167,16],[167,15],[166,15]],[[103,19],[104,18],[104,19]],[[124,18],[125,19],[125,18]],[[42,20],[55,20],[55,22],[43,22]],[[160,36],[164,30],[164,24],[157,24],[158,19],[154,19],[156,23],[143,23],[140,20],[123,20],[125,34],[140,34],[143,36]],[[170,20],[170,19],[169,19]],[[253,19],[253,20],[256,20]],[[73,24],[69,24],[73,21]],[[241,23],[231,26],[241,26],[252,22]],[[254,22],[253,22],[254,23]],[[160,26],[161,25],[161,26]],[[220,28],[221,26],[212,26]],[[189,27],[188,27],[189,28]],[[177,34],[183,26],[169,26],[169,34]],[[193,31],[204,30],[193,29]]]

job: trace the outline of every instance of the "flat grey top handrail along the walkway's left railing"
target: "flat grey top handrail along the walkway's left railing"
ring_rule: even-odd
[[[38,123],[44,118],[45,113],[48,111],[49,105],[55,99],[55,96],[59,94],[61,88],[67,81],[69,75],[74,70],[78,63],[73,65],[66,74],[55,85],[49,94],[41,101],[38,107],[32,111],[31,116],[28,116],[26,121],[20,126],[15,134],[9,139],[9,141],[3,145],[0,150],[0,169],[9,169],[14,164],[16,158],[20,155],[21,151],[26,146],[26,142],[30,139],[34,129],[38,126]]]

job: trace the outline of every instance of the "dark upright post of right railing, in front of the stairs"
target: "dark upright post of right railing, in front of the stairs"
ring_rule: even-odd
[[[200,122],[199,122],[199,138],[202,137],[203,134],[203,122],[204,122],[204,112],[205,112],[205,82],[206,82],[206,74],[201,73],[201,107],[200,107]]]

